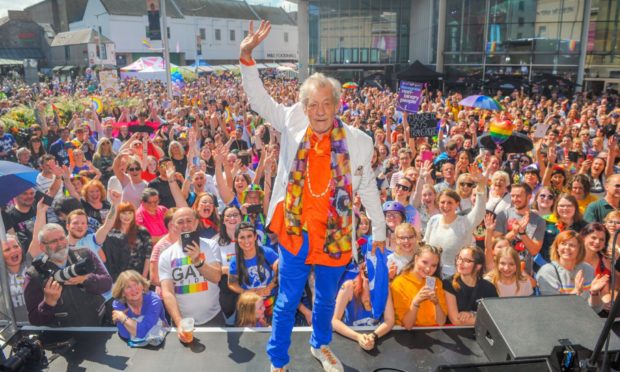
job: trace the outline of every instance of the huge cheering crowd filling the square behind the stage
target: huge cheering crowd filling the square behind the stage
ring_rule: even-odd
[[[263,85],[278,105],[298,101],[294,80],[264,77]],[[2,208],[18,320],[116,325],[133,346],[160,343],[183,318],[269,326],[278,288],[289,285],[279,275],[283,243],[266,218],[283,134],[252,111],[253,93],[232,74],[200,77],[171,100],[161,83],[129,79],[101,94],[136,106],[84,108],[68,123],[49,114],[58,97],[88,89],[82,80],[13,85],[0,102],[37,111],[26,141],[0,123],[0,160],[40,171],[36,188]],[[338,98],[342,123],[372,139],[362,156],[387,231],[385,250],[371,248],[377,219],[354,195],[357,254],[340,273],[331,322],[365,350],[394,325],[473,325],[487,297],[574,294],[605,316],[620,284],[610,258],[620,226],[618,96],[498,91],[501,112],[460,106],[462,98],[424,92],[420,111],[438,120],[433,138],[411,137],[410,114],[389,89]],[[534,149],[482,147],[477,138],[500,119]],[[375,293],[369,281],[382,271],[387,291]],[[291,307],[295,325],[316,320],[317,275],[306,275]]]

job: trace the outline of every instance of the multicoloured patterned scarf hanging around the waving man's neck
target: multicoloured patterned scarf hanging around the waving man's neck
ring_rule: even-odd
[[[353,224],[353,188],[351,186],[351,164],[349,150],[342,122],[334,119],[331,130],[331,181],[329,212],[327,214],[327,234],[323,252],[338,259],[342,253],[351,251]],[[310,136],[306,131],[299,144],[293,167],[289,174],[284,200],[284,221],[289,235],[301,235],[301,211],[303,208],[303,189],[306,166],[310,151]]]

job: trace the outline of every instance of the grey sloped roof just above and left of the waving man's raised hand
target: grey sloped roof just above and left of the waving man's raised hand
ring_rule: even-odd
[[[186,16],[257,19],[248,4],[236,0],[174,0]],[[166,8],[167,10],[167,8]]]

